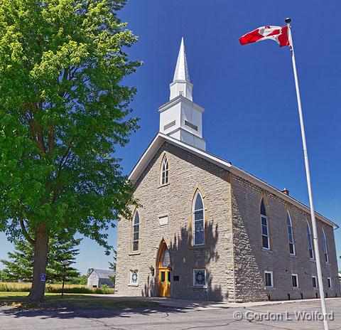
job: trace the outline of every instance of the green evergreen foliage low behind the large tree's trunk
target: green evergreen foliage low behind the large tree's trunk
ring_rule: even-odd
[[[60,282],[63,280],[64,266],[63,261],[70,262],[65,268],[65,279],[72,280],[77,278],[80,274],[71,265],[75,262],[75,257],[78,255],[78,249],[82,239],[77,240],[72,238],[70,240],[58,240],[50,238],[48,262],[46,267],[46,281]],[[33,275],[33,246],[25,240],[14,241],[14,252],[8,252],[9,260],[0,260],[5,266],[9,280],[22,280],[26,282],[32,281]]]

